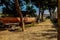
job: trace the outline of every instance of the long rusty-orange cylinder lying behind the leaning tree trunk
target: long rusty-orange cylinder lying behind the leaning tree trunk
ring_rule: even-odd
[[[36,22],[35,17],[24,17],[23,20],[25,23]],[[16,24],[18,22],[21,23],[21,18],[19,18],[19,17],[5,17],[5,18],[0,18],[0,22],[3,22],[4,24]]]

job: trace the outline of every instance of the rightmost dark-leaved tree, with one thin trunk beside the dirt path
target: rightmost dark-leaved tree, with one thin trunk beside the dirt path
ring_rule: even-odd
[[[52,14],[54,13],[56,7],[57,7],[57,0],[48,0],[48,9],[50,12],[50,18],[52,18]]]

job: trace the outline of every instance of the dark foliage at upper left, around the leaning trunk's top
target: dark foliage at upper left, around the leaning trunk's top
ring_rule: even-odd
[[[13,15],[15,17],[18,16],[14,2],[12,2],[11,0],[0,0],[0,1],[1,1],[1,4],[0,4],[1,6],[3,6],[3,4],[5,5],[5,7],[3,7],[3,14],[8,14],[9,16]],[[18,2],[21,8],[23,6],[23,3],[20,0]]]

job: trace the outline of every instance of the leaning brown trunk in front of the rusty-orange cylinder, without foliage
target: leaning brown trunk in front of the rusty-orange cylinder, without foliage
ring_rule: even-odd
[[[14,0],[14,2],[15,2],[16,11],[17,11],[17,13],[19,14],[19,17],[20,17],[20,19],[21,19],[22,31],[24,31],[24,20],[23,20],[23,15],[22,15],[22,13],[21,13],[21,9],[20,9],[18,0]]]

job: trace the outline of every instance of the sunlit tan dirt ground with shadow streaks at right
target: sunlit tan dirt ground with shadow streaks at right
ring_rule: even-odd
[[[0,31],[0,40],[57,40],[57,29],[50,20],[46,20],[26,28],[24,32]]]

